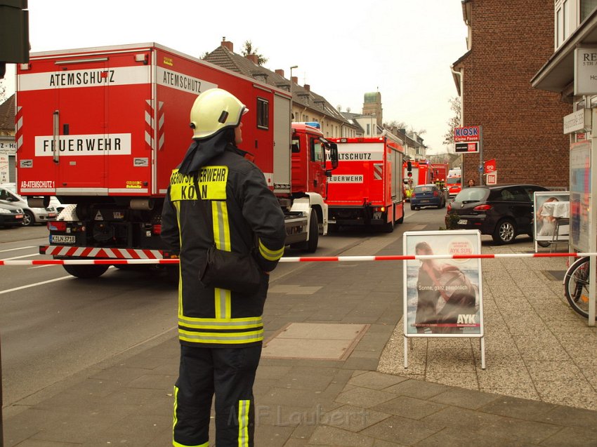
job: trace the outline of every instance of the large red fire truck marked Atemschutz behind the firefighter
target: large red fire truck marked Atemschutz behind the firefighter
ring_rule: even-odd
[[[327,152],[337,152],[316,128],[291,132],[287,91],[154,43],[34,53],[17,74],[18,192],[32,206],[47,204],[50,196],[74,204],[60,216],[64,220],[48,226],[50,243],[40,253],[169,257],[159,236],[164,195],[190,145],[192,103],[215,87],[251,111],[243,119],[242,149],[254,154],[280,199],[287,243],[315,251],[318,234],[327,232],[320,192],[331,165]],[[314,148],[315,161],[308,159],[310,150],[291,160],[291,138]],[[292,182],[291,163],[317,182]],[[107,267],[65,265],[81,278]]]

